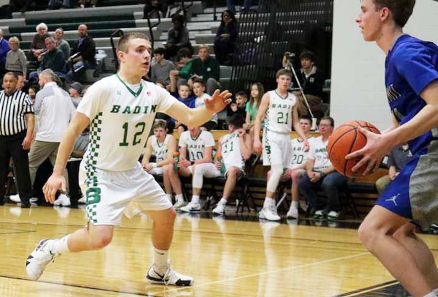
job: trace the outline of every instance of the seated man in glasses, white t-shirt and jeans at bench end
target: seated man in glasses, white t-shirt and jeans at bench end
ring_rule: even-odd
[[[316,210],[314,219],[326,216],[329,220],[336,220],[341,213],[338,190],[346,184],[347,178],[335,170],[327,155],[327,144],[334,125],[335,121],[331,117],[321,118],[318,125],[321,136],[311,142],[306,162],[307,174],[298,181],[301,193]],[[327,201],[318,196],[317,190],[322,190]]]

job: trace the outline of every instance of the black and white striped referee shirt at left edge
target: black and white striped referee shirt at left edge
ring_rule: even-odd
[[[18,134],[27,128],[25,114],[34,113],[30,97],[20,90],[7,95],[0,91],[0,136]]]

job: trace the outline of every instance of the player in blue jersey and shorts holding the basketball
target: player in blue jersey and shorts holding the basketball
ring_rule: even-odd
[[[415,234],[438,221],[438,47],[403,33],[415,0],[362,0],[356,19],[366,41],[385,52],[385,83],[393,126],[381,135],[364,129],[367,144],[347,159],[376,170],[396,145],[413,158],[378,198],[359,238],[414,297],[437,296],[434,257]]]

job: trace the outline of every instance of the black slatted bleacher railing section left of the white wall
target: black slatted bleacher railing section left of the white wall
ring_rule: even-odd
[[[333,0],[260,0],[258,9],[242,11],[230,89],[246,90],[254,81],[275,88],[283,53],[311,50],[318,67],[330,73]],[[298,58],[294,61],[299,69]]]

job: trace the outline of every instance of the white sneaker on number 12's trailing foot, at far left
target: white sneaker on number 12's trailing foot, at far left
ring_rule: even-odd
[[[43,239],[29,255],[26,260],[26,272],[29,279],[39,279],[47,265],[60,255],[56,251],[51,251],[52,245],[53,240]]]

